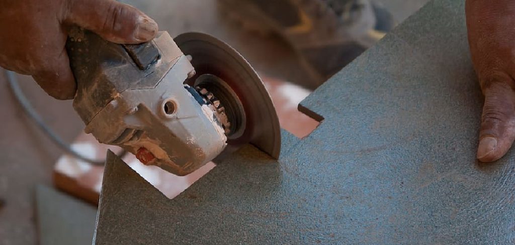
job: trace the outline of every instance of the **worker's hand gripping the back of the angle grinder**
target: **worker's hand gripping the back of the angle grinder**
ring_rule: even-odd
[[[72,99],[76,83],[65,43],[78,25],[115,43],[153,39],[150,17],[114,0],[0,0],[0,66],[32,75],[57,99]]]

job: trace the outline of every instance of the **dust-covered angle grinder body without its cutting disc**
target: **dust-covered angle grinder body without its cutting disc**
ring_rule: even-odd
[[[148,43],[120,45],[75,28],[66,49],[77,81],[73,106],[85,132],[100,143],[180,176],[226,148],[224,118],[184,84],[195,69],[167,32]]]

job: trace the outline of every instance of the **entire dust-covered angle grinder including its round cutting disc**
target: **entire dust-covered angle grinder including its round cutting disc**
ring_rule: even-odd
[[[202,33],[120,45],[75,28],[66,43],[85,132],[146,165],[192,173],[251,143],[278,158],[279,120],[256,72]]]

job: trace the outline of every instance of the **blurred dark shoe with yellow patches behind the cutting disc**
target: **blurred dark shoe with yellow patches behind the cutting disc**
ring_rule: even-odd
[[[219,0],[247,29],[281,36],[314,89],[380,40],[396,23],[366,0]]]

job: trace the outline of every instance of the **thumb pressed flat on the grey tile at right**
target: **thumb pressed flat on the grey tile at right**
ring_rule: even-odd
[[[515,91],[511,86],[493,82],[485,88],[481,118],[477,159],[493,162],[508,152],[515,139]]]

